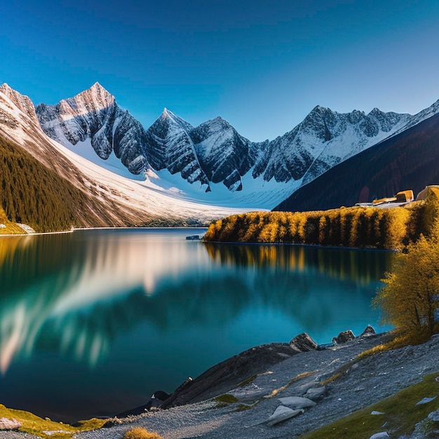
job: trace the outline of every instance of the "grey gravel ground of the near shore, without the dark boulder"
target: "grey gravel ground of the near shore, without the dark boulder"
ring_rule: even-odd
[[[350,363],[358,353],[385,339],[386,335],[359,338],[323,351],[299,353],[273,365],[244,388],[235,391],[230,389],[230,393],[246,399],[248,405],[259,401],[249,410],[236,412],[238,403],[219,406],[216,401],[207,400],[129,417],[123,419],[122,424],[77,433],[74,438],[117,439],[135,426],[156,431],[165,439],[299,437],[306,431],[312,431],[391,396],[420,381],[425,374],[439,370],[439,336],[435,336],[419,346],[406,346],[352,363],[344,370],[342,377],[327,384],[327,396],[315,407],[276,426],[264,423],[280,405],[278,398],[302,396],[307,389],[318,385],[320,381],[335,374],[339,367]],[[305,375],[288,385],[301,374]],[[255,398],[251,397],[252,394]],[[268,398],[262,397],[270,395]],[[20,436],[20,439],[24,437]],[[19,437],[5,436],[5,439],[15,438]]]

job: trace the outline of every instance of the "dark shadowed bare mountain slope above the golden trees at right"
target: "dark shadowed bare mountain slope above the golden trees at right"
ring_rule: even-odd
[[[326,210],[439,183],[439,115],[327,170],[273,210]]]

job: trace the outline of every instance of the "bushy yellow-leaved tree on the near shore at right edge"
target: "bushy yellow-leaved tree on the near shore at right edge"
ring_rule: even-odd
[[[421,235],[396,256],[393,273],[374,298],[383,311],[384,323],[391,323],[405,335],[430,336],[438,331],[435,313],[439,308],[439,224],[430,238]]]

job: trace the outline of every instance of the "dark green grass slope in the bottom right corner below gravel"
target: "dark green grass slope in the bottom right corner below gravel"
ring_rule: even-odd
[[[302,437],[304,439],[370,438],[372,434],[379,431],[387,431],[395,438],[408,435],[414,430],[415,424],[425,419],[430,412],[439,409],[439,398],[431,403],[416,405],[422,398],[439,396],[439,382],[435,381],[438,373],[427,375],[421,382],[407,387],[390,398],[358,410]],[[372,415],[370,414],[372,410],[384,414]],[[384,423],[387,424],[383,427]],[[436,428],[439,428],[439,425]]]

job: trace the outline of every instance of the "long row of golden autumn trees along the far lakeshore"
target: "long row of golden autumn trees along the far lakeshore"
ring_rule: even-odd
[[[439,213],[439,191],[425,201],[379,209],[354,206],[310,212],[249,212],[210,224],[205,241],[296,243],[354,248],[403,248],[428,236]]]

